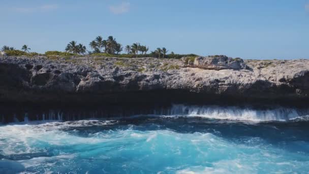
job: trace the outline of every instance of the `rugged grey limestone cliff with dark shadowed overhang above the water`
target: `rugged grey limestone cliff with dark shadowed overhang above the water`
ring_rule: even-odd
[[[303,100],[309,97],[309,60],[0,57],[2,102],[165,101],[172,93],[175,100]]]

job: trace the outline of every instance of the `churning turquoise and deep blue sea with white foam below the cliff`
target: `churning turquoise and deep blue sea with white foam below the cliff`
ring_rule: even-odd
[[[309,122],[132,117],[0,126],[0,173],[307,173]]]

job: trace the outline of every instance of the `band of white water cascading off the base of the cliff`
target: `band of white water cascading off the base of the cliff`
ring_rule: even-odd
[[[108,109],[107,109],[108,110]],[[139,117],[139,116],[157,116],[157,117],[200,117],[217,120],[234,120],[245,122],[267,122],[267,121],[289,121],[309,114],[309,109],[296,109],[274,107],[271,109],[254,109],[251,107],[237,107],[237,106],[195,106],[195,105],[172,105],[169,108],[161,108],[154,110],[140,110],[129,111],[118,109],[116,112],[108,113],[104,109],[92,110],[86,114],[84,111],[66,112],[61,110],[49,110],[41,113],[25,112],[23,115],[12,114],[8,115],[6,122],[25,122],[28,121],[75,121],[94,118],[119,118],[119,117]],[[2,123],[5,122],[4,115],[1,115]],[[1,122],[0,122],[1,123]]]

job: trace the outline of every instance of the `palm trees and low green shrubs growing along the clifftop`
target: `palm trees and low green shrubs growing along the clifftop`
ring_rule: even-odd
[[[181,57],[187,56],[197,56],[195,54],[175,54],[171,52],[168,54],[169,50],[165,47],[157,48],[154,51],[149,51],[149,47],[146,45],[141,45],[140,43],[133,43],[132,45],[127,45],[122,47],[120,43],[116,41],[113,36],[109,36],[106,40],[102,36],[98,36],[95,40],[89,43],[91,50],[87,50],[86,46],[83,44],[78,44],[76,41],[71,41],[67,44],[65,52],[62,51],[46,51],[45,55],[51,57],[51,59],[56,59],[55,56],[60,56],[61,58],[68,58],[69,56],[79,56],[79,55],[91,55],[91,56],[106,56],[106,57],[128,57],[128,58],[142,58],[142,57],[157,57],[159,59],[180,59]],[[16,50],[14,47],[3,46],[2,51]],[[23,45],[21,47],[23,52],[10,52],[8,55],[28,55],[35,56],[39,55],[35,52],[29,52],[31,49],[28,45]],[[126,51],[125,54],[121,54],[121,51]],[[26,54],[27,53],[27,54]],[[58,57],[59,58],[59,57]],[[57,58],[57,59],[58,59]]]

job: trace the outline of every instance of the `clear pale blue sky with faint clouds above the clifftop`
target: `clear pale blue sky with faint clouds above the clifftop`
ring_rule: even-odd
[[[0,0],[0,47],[123,46],[243,59],[309,59],[309,0]]]

